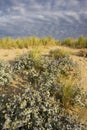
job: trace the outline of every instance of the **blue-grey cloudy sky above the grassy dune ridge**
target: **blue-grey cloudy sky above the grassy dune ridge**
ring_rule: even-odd
[[[87,36],[87,0],[0,0],[0,37]]]

